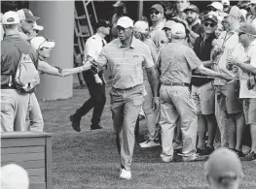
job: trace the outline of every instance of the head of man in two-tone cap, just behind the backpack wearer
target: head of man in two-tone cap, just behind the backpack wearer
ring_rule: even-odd
[[[33,32],[35,21],[38,20],[40,17],[33,16],[31,11],[29,11],[28,9],[18,10],[17,14],[20,19],[21,32],[23,32],[26,35],[29,35],[31,32]]]

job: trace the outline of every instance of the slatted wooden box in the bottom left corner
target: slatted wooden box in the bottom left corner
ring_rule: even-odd
[[[29,189],[52,189],[52,134],[1,133],[1,165],[17,164],[29,176]]]

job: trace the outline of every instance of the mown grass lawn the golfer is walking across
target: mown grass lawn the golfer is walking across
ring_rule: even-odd
[[[109,91],[109,88],[107,88]],[[161,163],[161,147],[141,149],[146,127],[140,126],[136,140],[132,179],[120,180],[119,155],[112,128],[109,98],[103,112],[104,129],[91,131],[91,112],[84,116],[82,132],[73,131],[69,115],[87,99],[87,89],[74,89],[68,100],[40,102],[45,120],[45,132],[53,137],[53,188],[206,188],[203,163]],[[242,188],[256,188],[256,162],[243,163],[245,179]]]

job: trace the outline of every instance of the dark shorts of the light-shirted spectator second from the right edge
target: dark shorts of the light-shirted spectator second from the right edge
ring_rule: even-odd
[[[229,114],[242,112],[242,100],[238,98],[238,91],[238,82],[216,86],[215,108],[218,104],[219,109],[225,110]]]

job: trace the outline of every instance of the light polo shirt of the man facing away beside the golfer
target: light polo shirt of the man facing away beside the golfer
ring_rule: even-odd
[[[162,83],[190,83],[192,71],[202,65],[194,50],[182,42],[172,42],[163,47],[157,64],[162,71]]]

